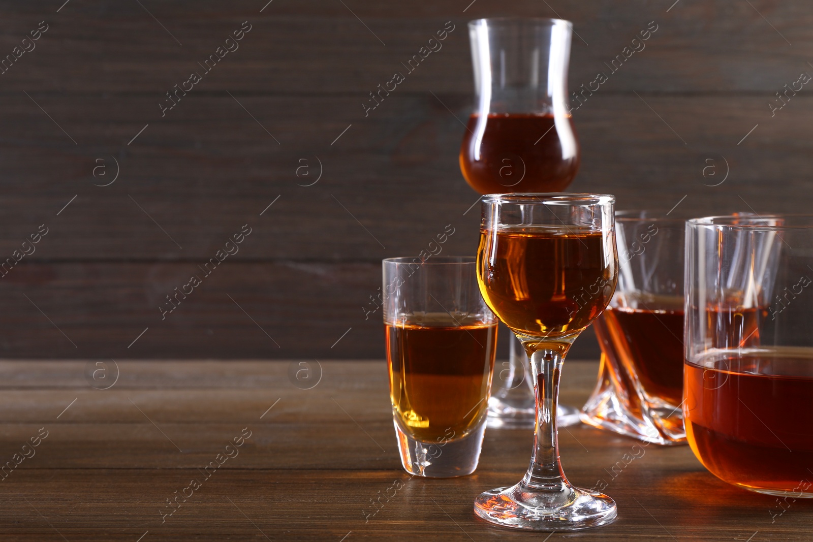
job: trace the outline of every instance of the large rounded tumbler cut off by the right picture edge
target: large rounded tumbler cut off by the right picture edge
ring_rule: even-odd
[[[686,434],[728,483],[813,497],[813,215],[686,224]]]

